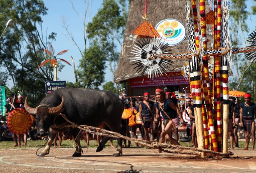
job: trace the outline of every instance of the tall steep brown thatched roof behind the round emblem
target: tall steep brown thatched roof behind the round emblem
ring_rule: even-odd
[[[176,19],[183,23],[186,27],[186,13],[185,13],[185,5],[186,0],[179,1],[148,1],[148,13],[147,13],[147,21],[150,22],[154,27],[165,19]],[[132,62],[130,62],[130,58],[134,57],[131,54],[131,49],[133,44],[137,39],[131,40],[131,35],[133,35],[133,31],[143,23],[143,10],[145,6],[145,0],[134,0],[131,1],[129,17],[127,19],[126,30],[124,33],[124,39],[122,44],[122,50],[119,57],[119,62],[117,66],[117,70],[114,76],[114,82],[125,81],[134,77],[141,76],[138,74],[134,67],[132,66]],[[207,13],[207,12],[206,12]],[[172,49],[171,53],[183,53],[188,52],[188,43],[187,38],[179,45],[170,47]],[[178,59],[173,61],[172,66],[170,66],[169,71],[181,71],[181,67],[186,65],[188,59]]]

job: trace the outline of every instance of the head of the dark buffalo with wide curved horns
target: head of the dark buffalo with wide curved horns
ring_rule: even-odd
[[[59,115],[63,111],[64,97],[62,96],[61,103],[56,107],[50,107],[51,105],[41,104],[36,108],[30,107],[27,102],[28,97],[25,100],[25,109],[35,117],[37,122],[37,133],[40,137],[48,135],[50,125],[55,115]]]

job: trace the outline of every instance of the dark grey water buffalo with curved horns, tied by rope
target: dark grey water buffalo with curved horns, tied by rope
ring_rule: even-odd
[[[55,134],[51,132],[52,128],[50,126],[54,123],[56,125],[66,123],[61,116],[58,116],[60,113],[65,114],[69,121],[76,124],[95,126],[122,133],[120,124],[123,102],[110,91],[77,88],[57,89],[46,96],[36,108],[30,107],[27,99],[25,100],[25,109],[35,116],[38,135],[40,137],[49,135],[49,141],[39,154],[40,156],[49,154],[54,140]],[[79,133],[78,128],[54,128],[54,130],[70,130],[74,137]],[[104,137],[96,151],[101,151],[108,139],[109,137]],[[73,156],[81,156],[80,137],[77,137],[75,142],[78,146],[76,146]],[[120,156],[122,153],[122,139],[117,139],[117,144],[117,150],[113,156]]]

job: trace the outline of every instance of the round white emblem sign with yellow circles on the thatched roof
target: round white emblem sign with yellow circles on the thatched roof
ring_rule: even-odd
[[[156,30],[161,36],[161,42],[169,46],[180,44],[187,36],[185,26],[175,19],[165,19],[159,22]]]

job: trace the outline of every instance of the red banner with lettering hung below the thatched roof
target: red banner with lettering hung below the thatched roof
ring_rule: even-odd
[[[181,72],[169,72],[156,78],[138,77],[131,79],[132,88],[153,87],[153,86],[176,86],[188,85],[189,80],[185,79]]]

